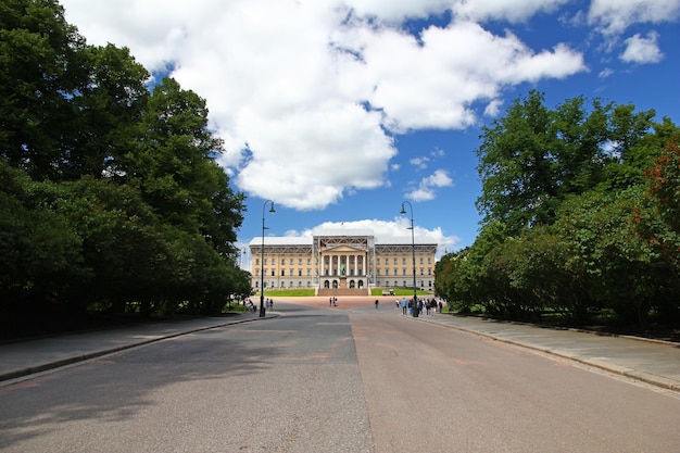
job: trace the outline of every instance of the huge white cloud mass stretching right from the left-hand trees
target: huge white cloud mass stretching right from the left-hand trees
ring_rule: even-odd
[[[506,86],[585,71],[566,45],[537,52],[471,21],[519,21],[564,0],[62,3],[88,42],[127,46],[150,71],[173,67],[206,99],[238,188],[298,210],[389,184],[394,134],[466,128],[478,122],[473,105],[493,113]],[[417,37],[401,27],[446,8],[457,18],[445,27]]]

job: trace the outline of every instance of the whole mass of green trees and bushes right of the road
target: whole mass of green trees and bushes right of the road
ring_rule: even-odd
[[[680,322],[679,129],[653,117],[582,98],[550,111],[537,91],[513,103],[477,150],[481,232],[438,263],[438,294],[505,318]]]

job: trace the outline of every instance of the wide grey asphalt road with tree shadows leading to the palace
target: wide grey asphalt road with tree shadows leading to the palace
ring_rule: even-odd
[[[0,388],[0,451],[680,451],[677,394],[389,305],[281,305]]]

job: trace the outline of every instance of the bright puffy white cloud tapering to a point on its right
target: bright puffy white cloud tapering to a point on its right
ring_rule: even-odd
[[[385,125],[394,133],[465,128],[477,121],[469,105],[498,98],[505,85],[585,70],[582,55],[564,45],[537,54],[516,36],[495,36],[471,22],[431,26],[421,33],[421,42],[404,32],[376,32],[367,24],[339,39],[362,56],[347,67],[363,81],[350,96],[380,108]]]

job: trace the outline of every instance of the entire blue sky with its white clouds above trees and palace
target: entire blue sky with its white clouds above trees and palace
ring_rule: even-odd
[[[484,125],[530,89],[680,124],[680,0],[63,0],[207,102],[248,211],[238,247],[319,227],[470,246]],[[267,206],[268,210],[268,206]],[[247,254],[243,264],[248,265]]]

